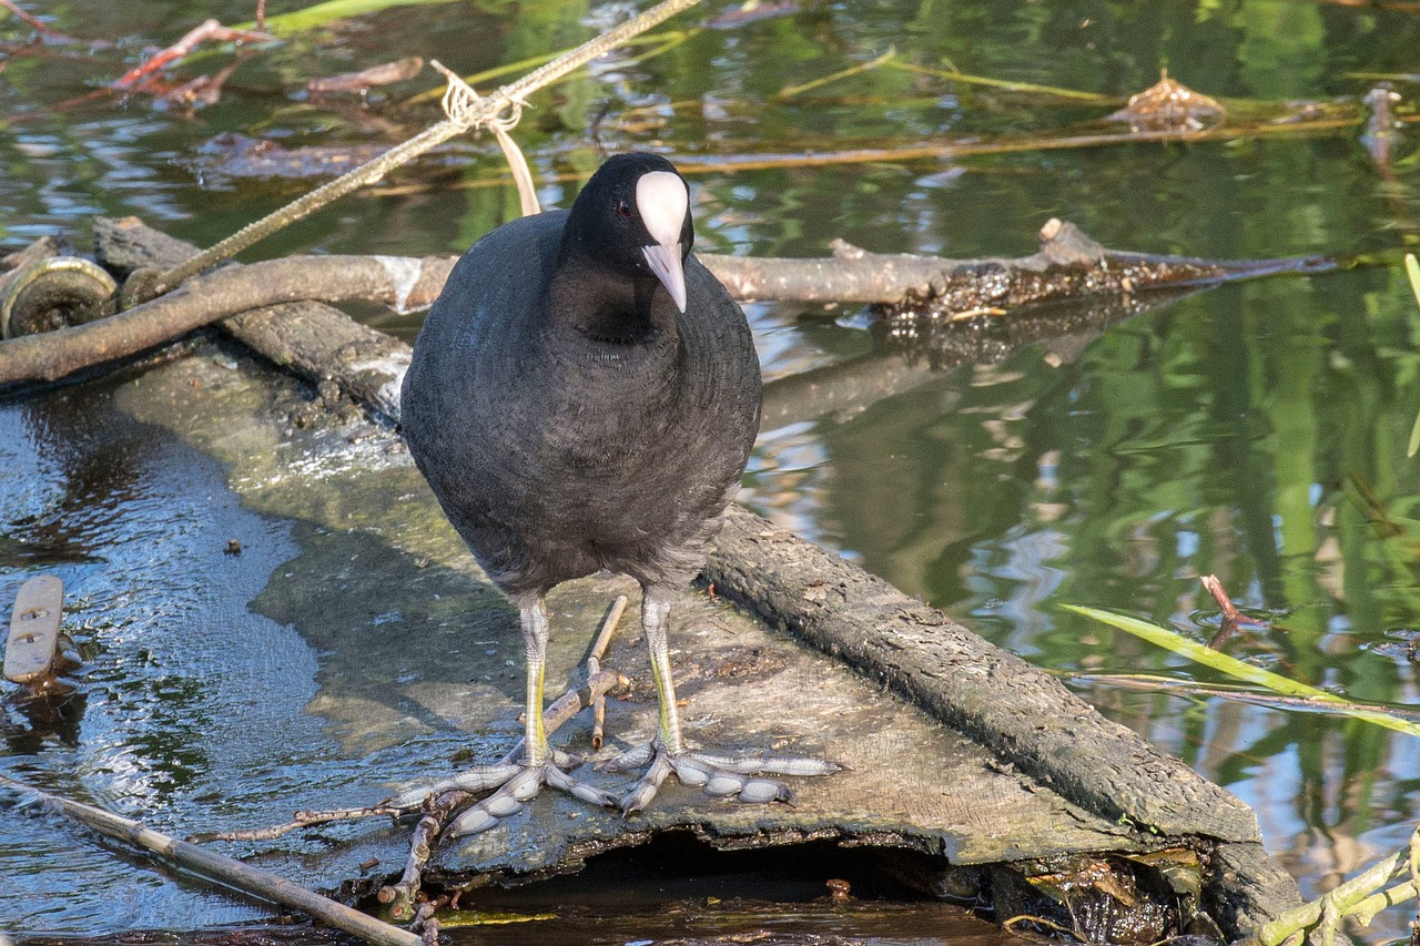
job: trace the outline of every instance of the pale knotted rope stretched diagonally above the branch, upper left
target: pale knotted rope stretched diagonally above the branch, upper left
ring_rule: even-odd
[[[586,65],[596,57],[613,50],[615,47],[621,45],[633,36],[645,33],[653,26],[657,26],[669,20],[682,10],[689,10],[699,1],[700,0],[663,0],[663,3],[657,3],[650,10],[646,10],[645,13],[640,13],[632,17],[630,20],[626,20],[621,26],[616,26],[608,30],[606,33],[601,34],[599,37],[588,43],[584,43],[582,45],[567,53],[565,55],[557,57],[547,65],[532,70],[531,72],[528,72],[518,81],[513,82],[511,85],[504,85],[493,95],[480,97],[477,102],[469,107],[469,115],[466,118],[471,118],[473,114],[480,114],[480,112],[487,112],[490,116],[497,115],[507,107],[506,105],[507,102],[517,105],[518,102],[525,101],[527,97],[535,92],[537,89],[545,85],[551,85],[552,82],[562,78],[568,72],[572,72]],[[464,129],[460,125],[457,125],[450,119],[444,119],[437,125],[432,125],[430,128],[425,129],[419,135],[415,135],[409,141],[395,145],[379,158],[368,163],[364,163],[359,168],[355,168],[354,170],[344,173],[335,180],[321,185],[315,190],[311,190],[297,197],[295,200],[281,207],[280,210],[275,210],[274,213],[270,213],[254,223],[248,223],[247,226],[241,227],[240,230],[229,236],[226,240],[222,240],[220,243],[207,250],[203,250],[202,253],[192,257],[186,263],[180,263],[179,266],[175,266],[166,273],[162,273],[155,280],[153,287],[145,294],[145,297],[135,298],[132,300],[132,303],[142,303],[146,301],[148,298],[162,295],[163,293],[182,284],[183,280],[196,276],[197,273],[202,273],[203,270],[210,268],[217,263],[222,263],[223,260],[231,259],[233,256],[247,249],[257,240],[261,240],[275,233],[277,230],[314,213],[315,210],[320,210],[325,205],[332,203],[339,197],[344,197],[352,190],[358,190],[359,187],[364,187],[368,183],[375,183],[393,168],[398,168],[399,165],[413,161],[415,158],[425,153],[430,148],[442,145],[443,142],[462,134],[463,131]]]

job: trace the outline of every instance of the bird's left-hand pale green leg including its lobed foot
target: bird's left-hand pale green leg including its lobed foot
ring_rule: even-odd
[[[575,798],[596,805],[615,808],[618,800],[606,791],[578,781],[558,768],[561,753],[547,744],[547,730],[542,722],[542,675],[547,668],[547,608],[542,599],[521,608],[523,642],[527,649],[527,689],[524,700],[523,761],[508,760],[496,766],[474,766],[453,778],[423,790],[413,790],[398,798],[413,797],[416,793],[444,791],[496,791],[454,818],[446,834],[459,837],[487,831],[523,808],[523,803],[537,795],[542,785],[552,785]]]

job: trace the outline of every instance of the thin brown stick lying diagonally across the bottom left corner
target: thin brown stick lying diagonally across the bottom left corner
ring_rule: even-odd
[[[310,913],[327,926],[359,936],[368,943],[379,946],[422,946],[423,940],[413,933],[366,916],[344,903],[337,903],[320,893],[307,891],[304,886],[297,886],[285,878],[258,871],[241,861],[223,857],[190,841],[179,841],[160,831],[153,831],[142,822],[95,808],[94,805],[87,805],[82,801],[41,791],[7,776],[0,776],[0,787],[40,798],[54,811],[102,835],[142,848],[165,862],[175,864],[179,868],[217,881],[243,893]]]

